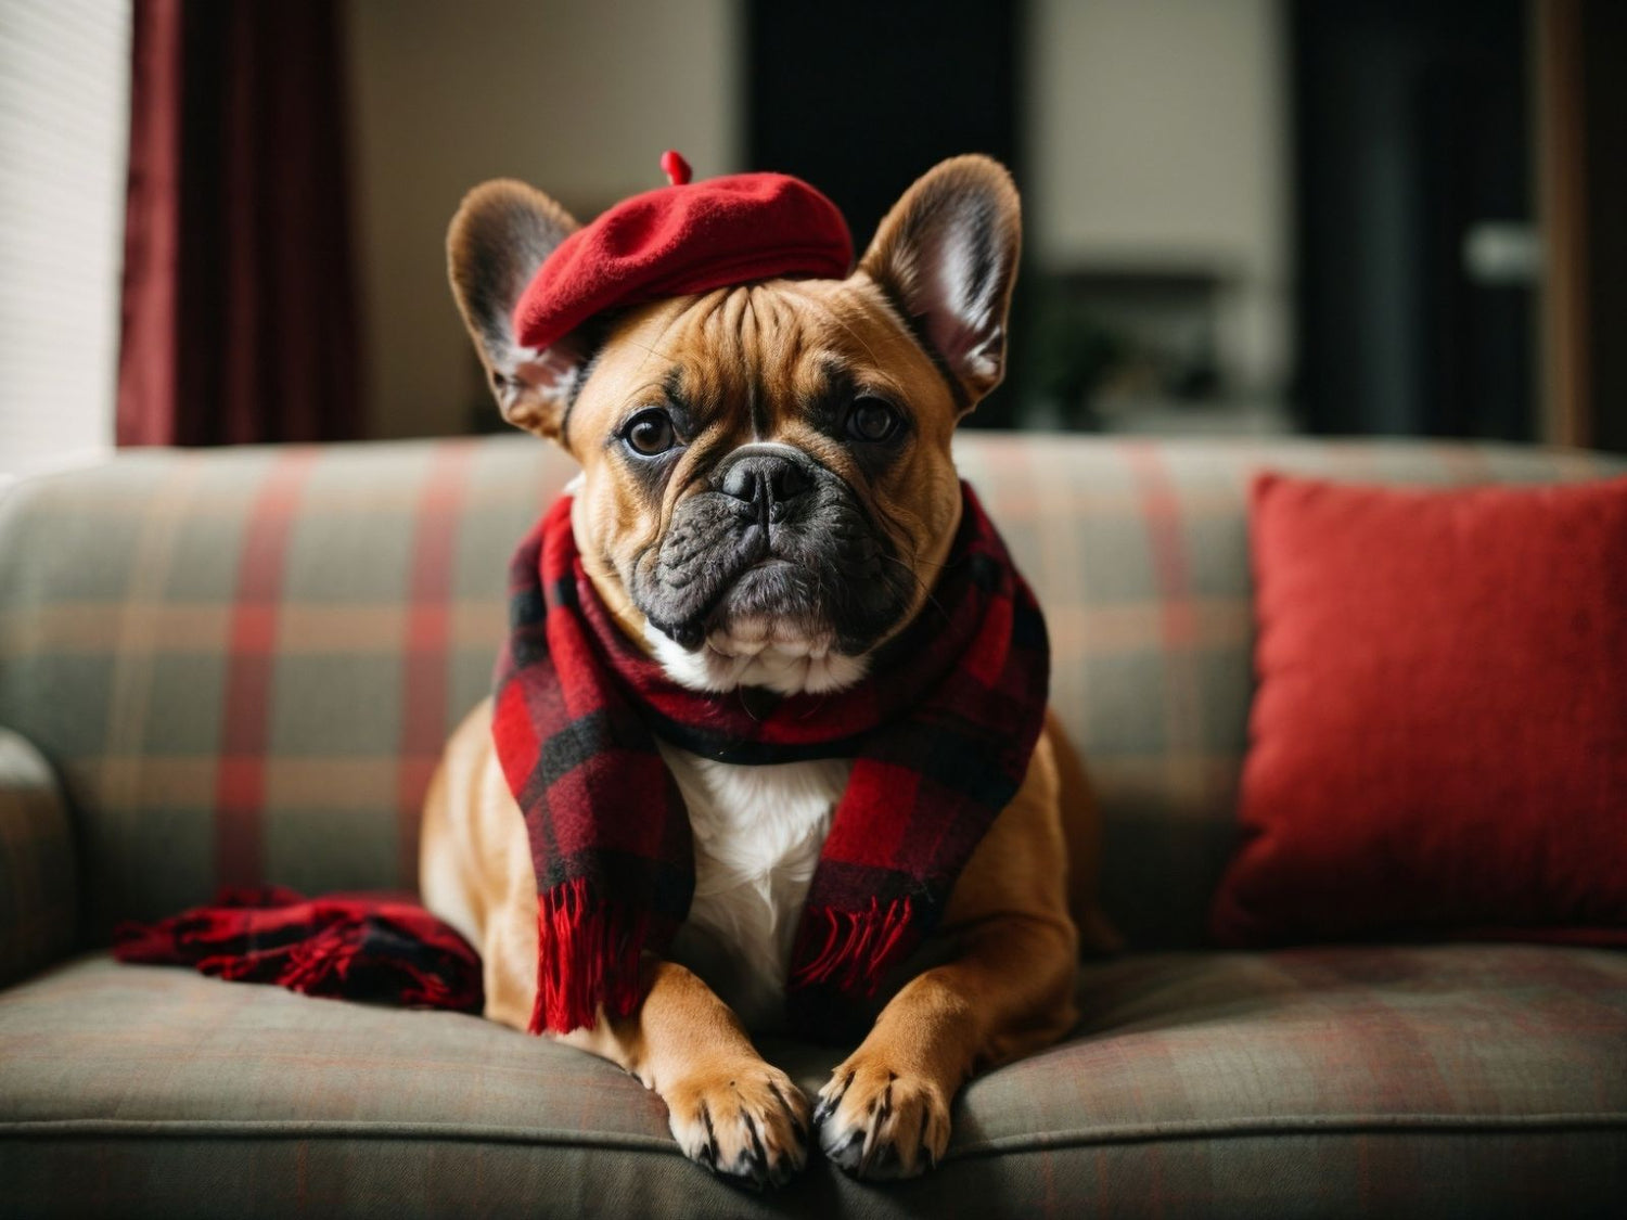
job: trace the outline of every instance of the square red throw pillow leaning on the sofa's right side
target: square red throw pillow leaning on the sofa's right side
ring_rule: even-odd
[[[1627,943],[1627,478],[1263,475],[1225,945]]]

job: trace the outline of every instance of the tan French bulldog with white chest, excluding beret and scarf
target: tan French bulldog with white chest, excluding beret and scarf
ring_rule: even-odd
[[[844,280],[657,299],[597,333],[526,348],[516,299],[576,228],[542,192],[493,181],[459,208],[447,259],[504,418],[581,465],[571,525],[608,613],[674,680],[718,699],[861,682],[929,603],[962,514],[950,439],[1005,371],[1022,244],[1010,176],[983,156],[944,161]],[[659,477],[651,454],[669,455]],[[704,547],[672,560],[716,586],[698,621],[678,605],[682,582],[651,576],[649,556],[726,467],[770,501],[823,480],[830,508],[810,516],[789,563],[742,573]],[[853,529],[874,534],[892,573],[862,594],[862,582],[833,587],[846,579],[838,535]],[[446,747],[425,807],[421,890],[478,948],[485,1015],[524,1030],[539,989],[539,885],[491,719],[488,699]],[[934,1166],[968,1077],[1075,1023],[1082,930],[1087,943],[1111,940],[1093,895],[1095,805],[1058,721],[1046,712],[1015,799],[955,882],[921,955],[936,965],[877,997],[817,1106],[748,1031],[778,1020],[791,932],[851,763],[744,766],[659,748],[693,831],[688,919],[665,960],[646,958],[648,994],[630,1017],[600,1013],[561,1041],[659,1093],[682,1150],[719,1176],[778,1186],[815,1140],[859,1178]]]

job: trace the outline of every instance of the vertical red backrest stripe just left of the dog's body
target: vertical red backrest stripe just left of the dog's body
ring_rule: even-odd
[[[452,563],[459,512],[475,447],[454,441],[436,447],[418,496],[412,582],[402,670],[400,765],[395,781],[397,843],[402,885],[417,888],[418,823],[423,795],[446,747]]]

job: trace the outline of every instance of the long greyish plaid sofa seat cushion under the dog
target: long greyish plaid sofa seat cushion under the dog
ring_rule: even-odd
[[[608,1064],[473,1017],[83,958],[0,992],[20,1215],[1520,1215],[1627,1191],[1627,955],[1149,955],[976,1080],[936,1174],[758,1200]],[[835,1052],[765,1043],[805,1090]]]

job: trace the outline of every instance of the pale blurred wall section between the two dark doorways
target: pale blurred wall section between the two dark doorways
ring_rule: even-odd
[[[1222,361],[1290,359],[1282,0],[1030,0],[1030,249],[1092,268],[1215,267]]]

